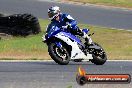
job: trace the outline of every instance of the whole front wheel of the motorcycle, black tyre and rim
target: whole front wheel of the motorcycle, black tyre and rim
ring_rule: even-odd
[[[51,58],[60,65],[67,65],[70,61],[68,50],[63,44],[62,47],[58,47],[55,43],[50,43],[48,52]]]

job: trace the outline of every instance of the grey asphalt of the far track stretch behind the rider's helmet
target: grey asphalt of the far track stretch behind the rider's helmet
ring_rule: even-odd
[[[37,17],[47,19],[47,9],[52,5],[58,5],[62,12],[71,14],[78,23],[132,30],[132,10],[47,1],[50,0],[0,0],[0,12],[7,14],[32,13]]]

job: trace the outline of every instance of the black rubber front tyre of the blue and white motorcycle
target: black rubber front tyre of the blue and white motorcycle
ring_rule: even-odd
[[[67,65],[70,61],[70,54],[68,53],[68,49],[64,46],[64,44],[62,43],[62,47],[65,50],[65,58],[60,57],[58,55],[58,52],[56,51],[57,46],[55,45],[55,43],[50,43],[48,45],[48,52],[49,55],[51,56],[51,58],[58,64],[60,65]],[[66,59],[66,60],[63,60]]]

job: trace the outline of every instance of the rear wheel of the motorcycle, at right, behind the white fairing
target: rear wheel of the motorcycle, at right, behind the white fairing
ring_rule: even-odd
[[[91,60],[91,62],[96,65],[103,65],[107,60],[107,55],[104,49],[99,44],[97,43],[94,44],[100,47],[100,49],[92,49],[93,59]]]

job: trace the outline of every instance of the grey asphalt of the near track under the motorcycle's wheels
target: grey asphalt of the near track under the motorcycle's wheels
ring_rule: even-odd
[[[87,74],[130,74],[132,61],[108,61],[102,66],[90,62],[58,65],[53,61],[0,62],[0,88],[132,88],[132,84],[76,83],[78,67]],[[72,86],[72,87],[70,87]]]

